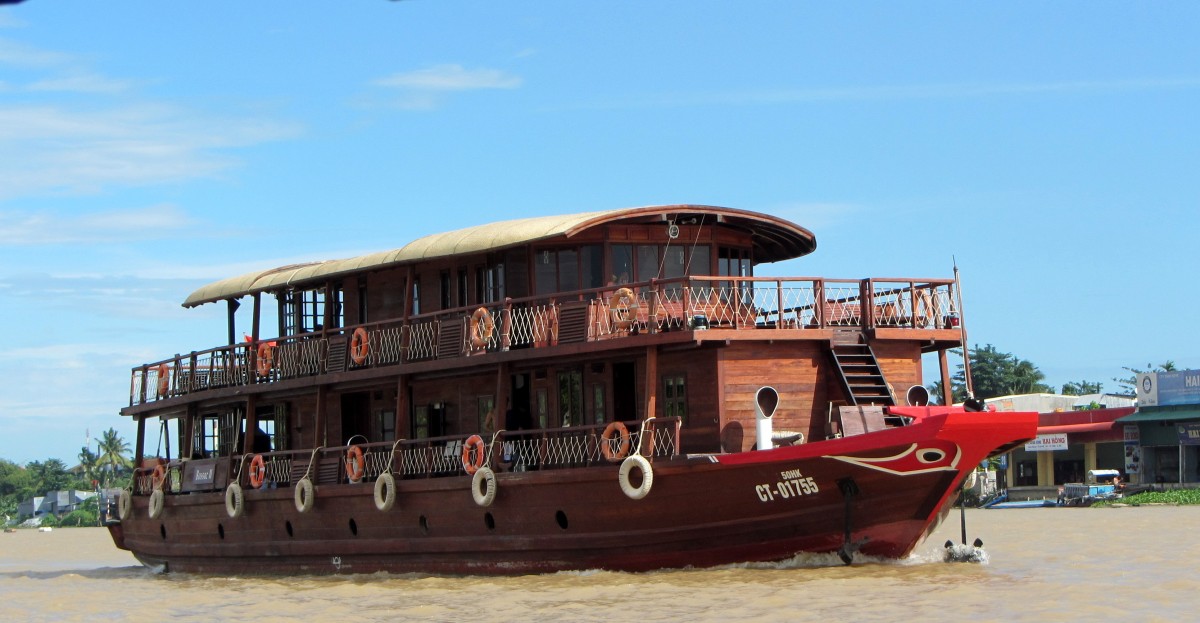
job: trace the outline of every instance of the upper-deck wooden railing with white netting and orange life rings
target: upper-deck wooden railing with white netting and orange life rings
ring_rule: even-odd
[[[953,280],[652,280],[247,341],[133,369],[130,405],[216,388],[678,330],[955,329]],[[792,334],[803,336],[804,334]]]

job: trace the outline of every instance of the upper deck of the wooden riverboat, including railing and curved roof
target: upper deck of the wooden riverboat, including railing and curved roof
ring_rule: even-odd
[[[952,280],[755,277],[815,235],[708,205],[518,218],[368,256],[241,275],[184,302],[226,301],[224,345],[133,369],[128,413],[161,401],[479,369],[677,342],[871,340],[958,346]],[[262,295],[277,301],[263,329]],[[250,333],[235,311],[253,301]],[[271,334],[274,333],[274,337]]]

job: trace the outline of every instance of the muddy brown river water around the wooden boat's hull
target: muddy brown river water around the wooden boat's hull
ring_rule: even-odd
[[[0,534],[0,622],[1195,621],[1200,507],[967,511],[986,564],[906,561],[522,577],[154,574],[101,528]]]

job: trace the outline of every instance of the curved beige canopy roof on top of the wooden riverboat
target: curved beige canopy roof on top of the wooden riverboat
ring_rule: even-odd
[[[612,223],[690,221],[740,229],[754,240],[756,263],[805,256],[816,248],[816,236],[803,227],[766,214],[712,205],[659,205],[562,216],[535,216],[467,227],[419,238],[400,248],[366,256],[307,264],[292,264],[221,280],[193,292],[185,307],[236,299],[371,269],[414,264],[433,258],[499,251],[554,238],[569,239],[586,229]],[[689,223],[690,224],[690,223]]]

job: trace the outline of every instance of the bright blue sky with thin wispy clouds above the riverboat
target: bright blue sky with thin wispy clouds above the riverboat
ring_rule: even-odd
[[[0,457],[133,426],[224,341],[194,288],[493,220],[791,218],[760,274],[962,271],[1046,382],[1200,367],[1184,2],[62,2],[0,8]],[[953,258],[953,259],[952,259]],[[932,381],[932,379],[929,379]],[[154,439],[151,439],[152,442]]]

